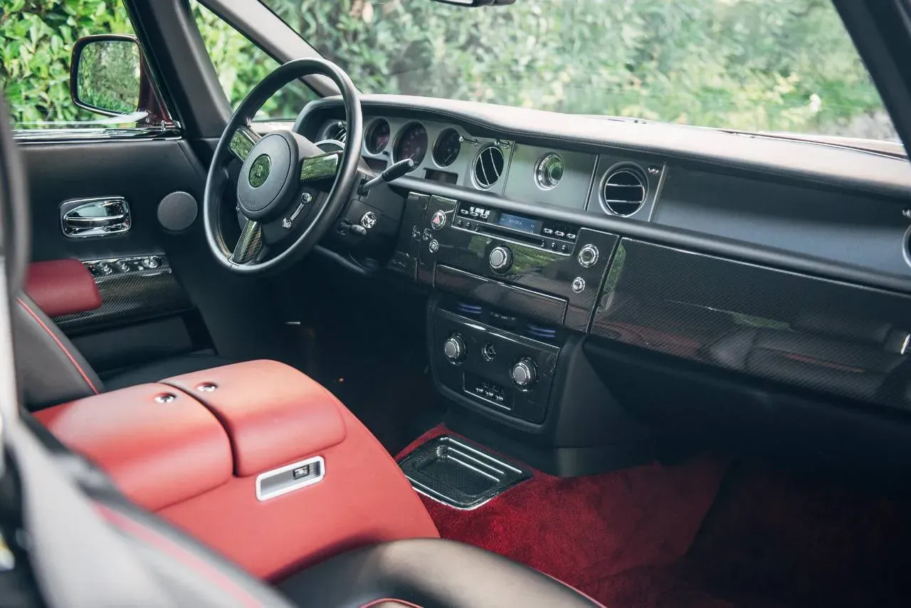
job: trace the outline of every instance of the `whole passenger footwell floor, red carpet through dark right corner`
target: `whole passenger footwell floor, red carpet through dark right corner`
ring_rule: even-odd
[[[443,538],[610,608],[911,605],[911,503],[814,476],[705,456],[575,479],[536,472],[476,510],[422,499]]]

